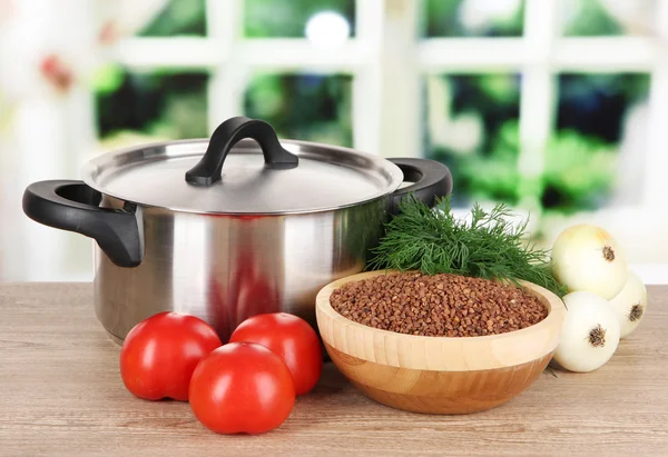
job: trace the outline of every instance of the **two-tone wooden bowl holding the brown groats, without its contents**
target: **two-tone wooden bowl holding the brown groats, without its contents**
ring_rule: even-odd
[[[566,307],[549,290],[521,282],[548,308],[540,322],[483,337],[424,337],[354,322],[332,308],[332,291],[346,282],[397,271],[353,275],[316,297],[320,334],[332,361],[370,398],[426,414],[469,414],[494,408],[536,380],[552,358]]]

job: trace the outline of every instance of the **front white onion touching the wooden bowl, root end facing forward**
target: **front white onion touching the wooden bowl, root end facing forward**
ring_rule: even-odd
[[[619,345],[619,318],[608,300],[589,291],[563,297],[568,308],[553,360],[570,371],[593,371]]]

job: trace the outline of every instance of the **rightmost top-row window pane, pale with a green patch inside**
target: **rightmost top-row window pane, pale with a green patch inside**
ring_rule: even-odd
[[[560,0],[563,34],[647,34],[654,22],[655,8],[655,1]]]

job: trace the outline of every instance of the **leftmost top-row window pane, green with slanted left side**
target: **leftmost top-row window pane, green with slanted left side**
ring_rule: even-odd
[[[204,0],[169,0],[138,34],[140,37],[205,36]]]

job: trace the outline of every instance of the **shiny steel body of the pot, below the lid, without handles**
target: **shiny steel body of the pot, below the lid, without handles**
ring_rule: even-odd
[[[102,196],[101,207],[124,207]],[[136,208],[143,259],[115,265],[95,245],[95,308],[107,332],[122,340],[149,316],[167,310],[209,322],[227,341],[246,318],[285,311],[314,328],[315,296],[326,284],[364,269],[389,217],[384,197],[337,210],[239,216]]]

